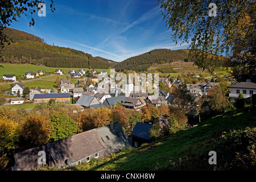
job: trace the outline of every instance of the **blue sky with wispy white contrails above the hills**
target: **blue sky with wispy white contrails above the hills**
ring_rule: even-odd
[[[180,49],[171,40],[156,0],[46,0],[46,16],[22,15],[10,27],[43,38],[47,44],[123,61],[156,48]]]

